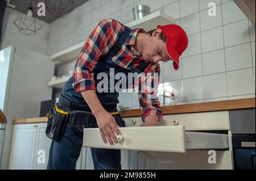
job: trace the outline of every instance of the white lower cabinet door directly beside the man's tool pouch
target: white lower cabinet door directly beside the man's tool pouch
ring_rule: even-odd
[[[49,159],[49,148],[52,140],[46,136],[47,123],[37,124],[36,149],[34,159],[34,169],[46,170]]]

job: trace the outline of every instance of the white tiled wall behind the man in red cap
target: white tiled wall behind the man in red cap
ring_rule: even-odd
[[[209,2],[216,3],[216,16],[208,15]],[[180,69],[174,70],[171,61],[161,63],[160,83],[165,84],[160,84],[159,90],[163,91],[164,85],[175,87],[176,94],[181,95],[179,103],[183,104],[255,95],[255,26],[231,0],[91,0],[67,18],[51,23],[48,47],[41,48],[46,47],[53,54],[80,39],[85,41],[102,18],[130,22],[135,5],[148,5],[151,12],[162,9],[189,35]],[[16,41],[15,37],[3,41]],[[122,93],[120,101],[125,106],[138,107],[135,94]],[[163,104],[162,96],[159,100]]]

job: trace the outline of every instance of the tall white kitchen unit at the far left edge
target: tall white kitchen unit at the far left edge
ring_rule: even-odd
[[[12,46],[0,51],[0,109],[7,119],[0,125],[5,129],[0,169],[9,167],[12,121],[39,116],[40,102],[52,98],[47,82],[53,72],[54,62],[45,54]]]

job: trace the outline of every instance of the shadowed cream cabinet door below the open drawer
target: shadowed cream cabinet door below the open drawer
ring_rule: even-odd
[[[141,151],[139,170],[232,170],[232,151],[187,150],[186,153]]]

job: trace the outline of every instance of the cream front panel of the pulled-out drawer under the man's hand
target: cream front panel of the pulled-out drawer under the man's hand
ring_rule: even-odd
[[[102,141],[98,128],[84,129],[83,146],[91,148],[129,149],[149,151],[185,152],[185,132],[177,127],[128,127],[119,128],[123,141],[110,145]]]

